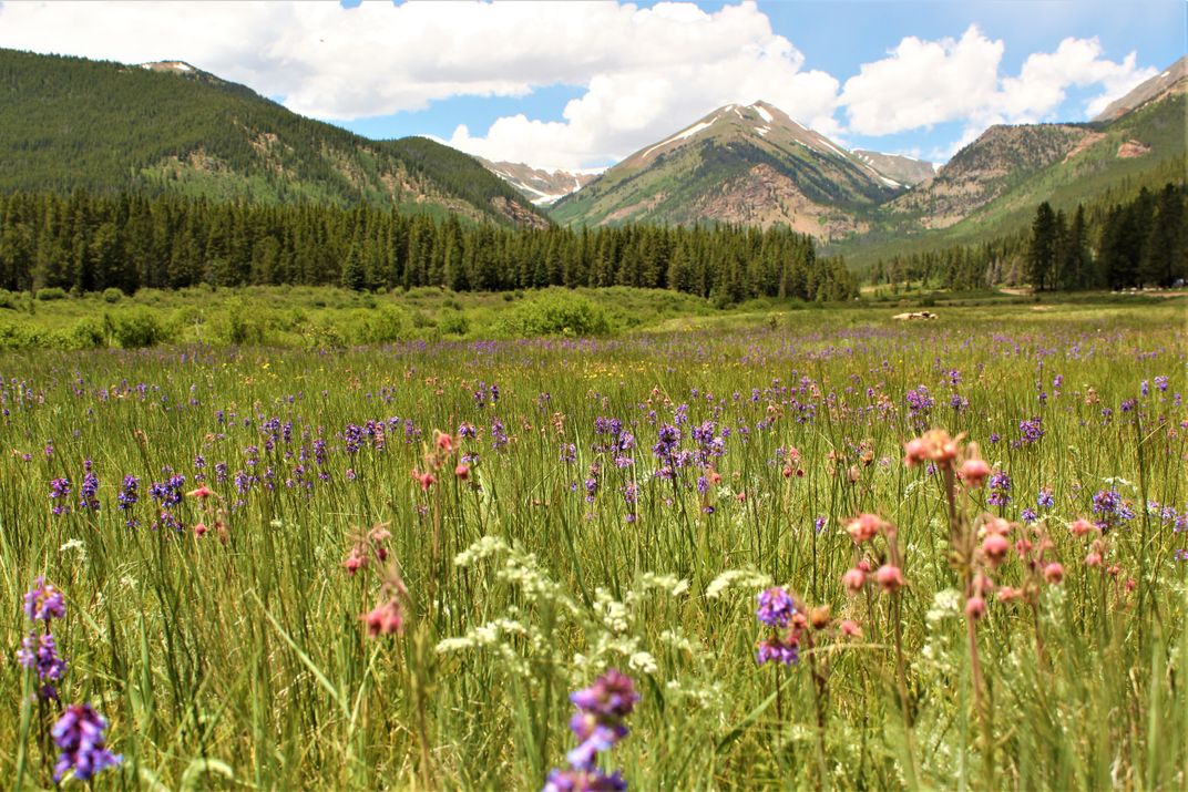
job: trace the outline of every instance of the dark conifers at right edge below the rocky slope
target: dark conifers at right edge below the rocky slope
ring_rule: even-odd
[[[1171,286],[1188,279],[1188,189],[1169,182],[1127,202],[1079,204],[1066,214],[1048,202],[1031,228],[969,246],[879,261],[876,284],[921,283],[954,290],[1030,284],[1036,291]]]

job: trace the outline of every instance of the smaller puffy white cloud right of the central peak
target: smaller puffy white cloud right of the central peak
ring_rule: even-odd
[[[977,26],[960,39],[903,39],[846,82],[840,104],[849,129],[883,135],[965,121],[960,147],[992,123],[1053,120],[1073,87],[1101,87],[1083,108],[1092,116],[1156,74],[1139,69],[1133,52],[1120,63],[1105,58],[1095,38],[1066,38],[1055,52],[1029,56],[1016,76],[1000,75],[1003,51]]]

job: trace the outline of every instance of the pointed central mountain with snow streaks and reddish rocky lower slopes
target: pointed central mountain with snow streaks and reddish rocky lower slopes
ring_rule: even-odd
[[[554,204],[564,224],[789,226],[821,239],[861,232],[861,214],[903,192],[870,161],[766,102],[727,104],[642,148]]]

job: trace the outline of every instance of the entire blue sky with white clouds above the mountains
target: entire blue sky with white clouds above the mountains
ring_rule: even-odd
[[[943,160],[990,123],[1086,120],[1188,47],[1182,0],[352,5],[6,4],[0,46],[185,59],[371,138],[568,169],[759,99]]]

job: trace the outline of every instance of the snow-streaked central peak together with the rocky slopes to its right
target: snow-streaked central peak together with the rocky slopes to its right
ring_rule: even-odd
[[[565,224],[786,224],[839,249],[1012,232],[1059,205],[1183,180],[1188,59],[1092,122],[999,125],[941,167],[843,146],[765,102],[727,104],[558,199]]]

